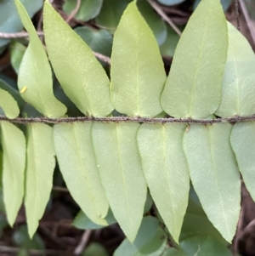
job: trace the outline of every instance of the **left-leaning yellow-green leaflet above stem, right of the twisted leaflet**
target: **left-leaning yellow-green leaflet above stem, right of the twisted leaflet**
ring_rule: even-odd
[[[43,22],[48,57],[65,94],[83,114],[105,117],[113,110],[109,79],[92,50],[46,1]]]

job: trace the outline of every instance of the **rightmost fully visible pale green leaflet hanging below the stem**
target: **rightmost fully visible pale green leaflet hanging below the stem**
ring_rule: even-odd
[[[190,179],[208,219],[232,241],[241,208],[241,181],[229,143],[232,126],[191,125],[184,133]]]

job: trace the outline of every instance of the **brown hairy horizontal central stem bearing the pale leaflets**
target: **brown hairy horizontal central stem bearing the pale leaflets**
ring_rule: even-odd
[[[152,122],[152,123],[193,123],[193,124],[212,124],[220,122],[249,122],[255,121],[255,115],[251,117],[225,117],[215,119],[191,119],[191,118],[150,118],[150,117],[64,117],[64,118],[48,118],[48,117],[17,117],[9,119],[8,117],[0,116],[0,121],[12,123],[61,123],[61,122]]]

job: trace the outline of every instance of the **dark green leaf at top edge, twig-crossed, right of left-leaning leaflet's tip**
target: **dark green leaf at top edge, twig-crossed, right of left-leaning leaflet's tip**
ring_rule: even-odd
[[[94,19],[102,7],[103,0],[82,0],[80,8],[75,15],[76,20],[88,21]],[[67,0],[63,5],[63,10],[66,14],[71,14],[71,12],[76,9],[76,0]]]

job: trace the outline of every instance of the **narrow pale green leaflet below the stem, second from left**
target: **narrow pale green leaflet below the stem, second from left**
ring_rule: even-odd
[[[26,126],[25,207],[29,236],[32,237],[48,203],[53,185],[55,152],[53,128],[44,123]]]

